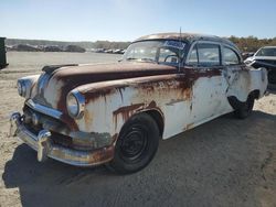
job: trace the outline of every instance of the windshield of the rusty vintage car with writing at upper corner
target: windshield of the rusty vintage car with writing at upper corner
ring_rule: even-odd
[[[155,62],[178,65],[184,53],[185,43],[180,41],[141,41],[129,45],[123,59]]]

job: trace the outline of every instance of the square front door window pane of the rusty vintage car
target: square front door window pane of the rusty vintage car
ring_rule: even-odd
[[[221,65],[220,45],[210,43],[198,44],[199,66],[210,67]]]

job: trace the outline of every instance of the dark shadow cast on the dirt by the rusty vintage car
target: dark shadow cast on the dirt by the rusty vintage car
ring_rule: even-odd
[[[275,123],[276,116],[261,111],[246,120],[223,116],[161,141],[148,167],[125,176],[104,166],[39,163],[22,144],[2,178],[19,188],[22,206],[259,206],[256,189],[276,145]]]

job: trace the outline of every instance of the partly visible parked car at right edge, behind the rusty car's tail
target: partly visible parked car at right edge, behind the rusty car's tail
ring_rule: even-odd
[[[268,72],[268,83],[276,84],[276,46],[264,46],[244,62],[246,65]]]

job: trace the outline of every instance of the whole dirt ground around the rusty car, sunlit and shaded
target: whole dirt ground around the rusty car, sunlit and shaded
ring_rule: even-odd
[[[45,64],[119,58],[97,55],[8,53],[10,67],[0,72],[0,206],[276,206],[276,89],[246,120],[226,115],[161,141],[151,164],[127,176],[39,163],[33,150],[8,137],[9,113],[23,103],[18,77]]]

